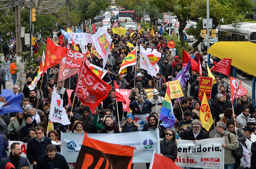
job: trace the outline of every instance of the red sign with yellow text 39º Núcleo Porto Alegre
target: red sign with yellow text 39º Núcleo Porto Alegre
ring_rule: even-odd
[[[201,76],[199,84],[198,98],[203,100],[204,92],[207,100],[211,98],[211,87],[212,87],[212,77]]]

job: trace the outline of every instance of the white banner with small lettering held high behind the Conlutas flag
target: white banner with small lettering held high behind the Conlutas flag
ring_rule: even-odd
[[[92,34],[89,33],[70,33],[68,32],[68,43],[72,43],[72,38],[75,38],[76,44],[81,44],[82,37],[84,38],[84,45],[87,45],[88,43],[92,44]]]

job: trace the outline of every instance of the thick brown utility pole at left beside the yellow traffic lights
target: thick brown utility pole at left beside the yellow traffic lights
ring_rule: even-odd
[[[19,64],[19,65],[21,65],[21,51],[22,51],[22,41],[21,41],[20,28],[21,28],[20,5],[17,4],[15,6],[15,35],[16,35],[17,64]],[[20,72],[17,73],[17,77],[22,78],[22,70],[20,70]]]

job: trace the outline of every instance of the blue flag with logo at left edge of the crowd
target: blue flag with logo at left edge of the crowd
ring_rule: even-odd
[[[0,95],[0,115],[5,113],[23,113],[21,109],[22,94],[14,95],[13,91],[3,89]]]

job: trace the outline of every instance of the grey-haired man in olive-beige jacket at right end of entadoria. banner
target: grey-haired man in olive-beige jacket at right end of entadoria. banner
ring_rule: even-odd
[[[232,155],[231,150],[238,149],[239,142],[236,138],[235,134],[230,133],[227,130],[226,124],[222,121],[217,122],[216,124],[217,134],[214,138],[223,138],[225,139],[225,143],[222,144],[222,147],[225,148],[224,154],[224,169],[233,169],[235,165],[235,158]]]

